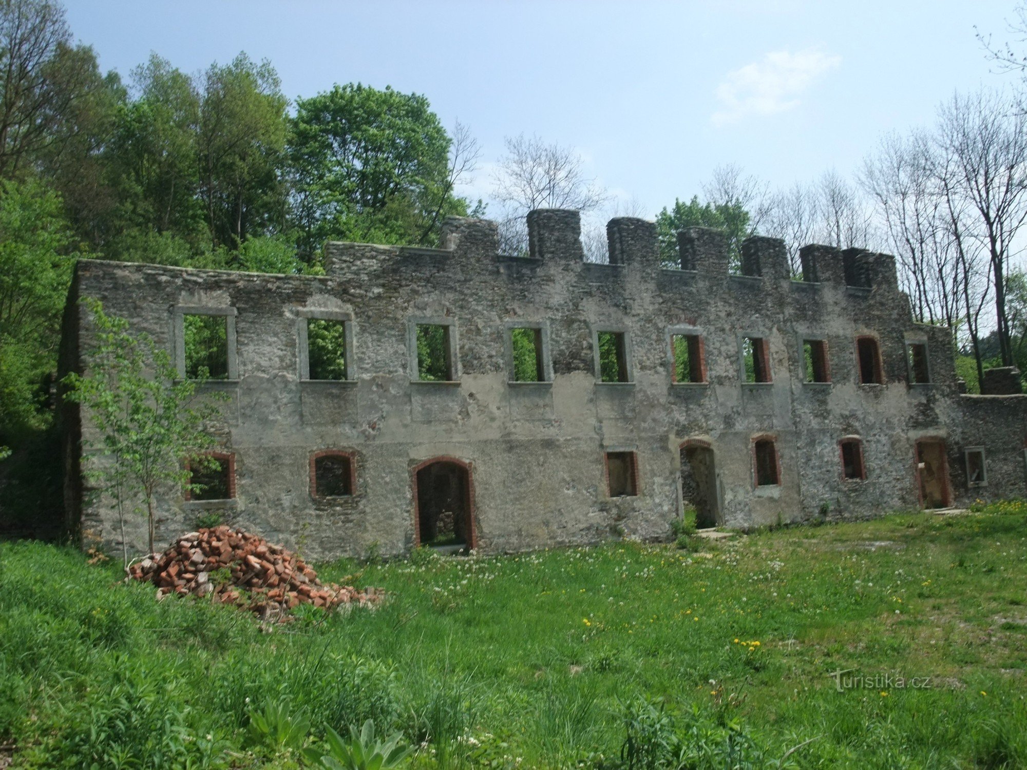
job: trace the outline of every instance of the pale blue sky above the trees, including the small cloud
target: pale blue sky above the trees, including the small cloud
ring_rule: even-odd
[[[1009,83],[978,40],[1015,3],[987,0],[269,2],[69,0],[75,36],[127,76],[156,51],[187,72],[240,50],[292,99],[360,81],[424,93],[482,146],[576,148],[587,171],[654,214],[736,163],[789,186],[848,175],[885,131],[929,123],[955,89]]]

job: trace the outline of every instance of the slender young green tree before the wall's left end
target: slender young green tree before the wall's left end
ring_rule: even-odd
[[[117,505],[127,567],[126,506],[142,497],[152,553],[159,489],[195,489],[190,467],[211,468],[216,462],[204,454],[217,441],[203,426],[218,416],[218,405],[217,398],[195,402],[196,381],[178,380],[167,351],[151,337],[131,335],[126,320],[107,315],[96,300],[84,302],[96,343],[87,355],[88,373],[65,378],[65,398],[85,407],[99,434],[90,449],[106,457],[89,472]]]

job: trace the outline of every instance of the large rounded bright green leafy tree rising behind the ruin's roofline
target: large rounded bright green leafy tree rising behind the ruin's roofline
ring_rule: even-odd
[[[330,238],[433,244],[445,216],[467,213],[450,149],[416,93],[350,83],[299,100],[289,154],[303,258]]]

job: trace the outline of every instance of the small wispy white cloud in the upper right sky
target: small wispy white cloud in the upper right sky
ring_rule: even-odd
[[[791,110],[803,91],[840,63],[841,56],[811,48],[767,53],[760,62],[727,73],[716,91],[721,109],[711,120],[714,125],[724,125]]]

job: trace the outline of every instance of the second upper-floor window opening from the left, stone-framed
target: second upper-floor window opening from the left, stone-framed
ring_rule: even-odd
[[[300,380],[353,382],[353,316],[348,312],[301,308],[296,324]]]

